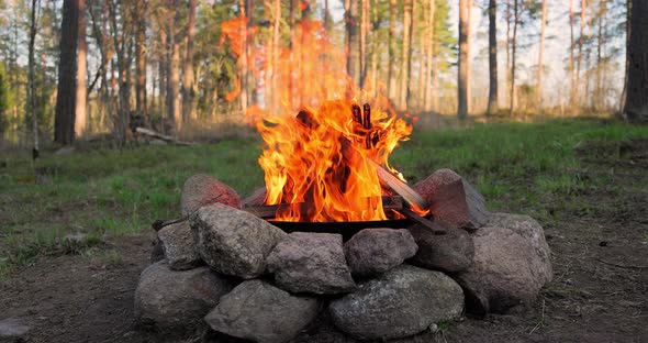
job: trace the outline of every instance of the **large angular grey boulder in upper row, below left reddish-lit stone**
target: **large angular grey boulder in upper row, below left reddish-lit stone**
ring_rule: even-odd
[[[258,217],[222,203],[200,208],[189,223],[208,265],[246,279],[264,273],[270,251],[287,235]]]

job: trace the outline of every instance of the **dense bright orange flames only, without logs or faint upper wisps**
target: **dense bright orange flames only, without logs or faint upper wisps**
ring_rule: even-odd
[[[380,107],[360,109],[353,100],[329,100],[297,117],[260,121],[266,142],[259,164],[265,172],[267,204],[283,221],[384,220],[386,192],[373,161],[388,156],[412,131]]]

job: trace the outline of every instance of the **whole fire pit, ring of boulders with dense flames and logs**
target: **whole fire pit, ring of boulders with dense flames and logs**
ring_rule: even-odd
[[[528,305],[550,280],[535,220],[490,213],[453,170],[410,187],[388,167],[411,132],[395,115],[328,101],[258,129],[265,189],[242,200],[197,175],[182,218],[154,224],[141,323],[287,342],[315,341],[328,322],[340,336],[398,339]]]

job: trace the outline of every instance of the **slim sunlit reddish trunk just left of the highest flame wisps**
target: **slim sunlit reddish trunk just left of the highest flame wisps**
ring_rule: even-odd
[[[195,36],[195,0],[189,0],[187,14],[187,54],[182,70],[182,121],[195,120],[193,110],[193,37]]]

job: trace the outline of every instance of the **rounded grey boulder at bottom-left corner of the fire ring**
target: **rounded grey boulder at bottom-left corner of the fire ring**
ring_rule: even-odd
[[[176,272],[158,262],[142,272],[135,316],[141,323],[163,331],[197,328],[234,286],[208,267]]]

